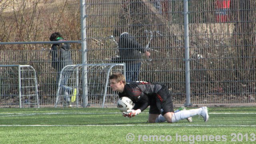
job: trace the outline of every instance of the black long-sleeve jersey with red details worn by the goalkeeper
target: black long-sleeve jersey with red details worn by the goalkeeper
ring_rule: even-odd
[[[119,93],[119,98],[129,97],[135,104],[134,110],[145,110],[150,105],[156,105],[157,93],[166,87],[164,84],[153,82],[130,82],[124,86],[124,92]],[[167,88],[167,87],[166,87]],[[170,93],[166,94],[169,95]],[[158,97],[159,98],[159,97]]]

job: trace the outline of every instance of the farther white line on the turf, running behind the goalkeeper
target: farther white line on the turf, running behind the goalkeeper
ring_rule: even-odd
[[[7,114],[7,115],[6,115]],[[121,114],[121,112],[50,112],[50,113],[0,113],[0,117],[9,117],[9,116],[32,116],[32,115],[51,115],[51,114]],[[141,114],[148,114],[147,112],[142,112]],[[256,114],[255,112],[251,113],[231,113],[231,112],[209,112],[208,114]],[[4,116],[1,116],[4,115]]]

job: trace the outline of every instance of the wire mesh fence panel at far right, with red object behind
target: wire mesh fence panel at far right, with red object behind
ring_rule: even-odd
[[[189,5],[192,103],[255,105],[255,1],[193,0]]]

